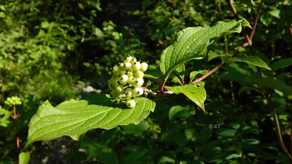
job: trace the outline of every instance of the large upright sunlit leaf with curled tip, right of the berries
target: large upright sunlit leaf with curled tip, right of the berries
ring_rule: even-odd
[[[224,35],[241,32],[241,22],[243,25],[249,25],[245,19],[242,19],[217,22],[210,28],[187,27],[178,32],[174,43],[162,52],[160,58],[163,78],[167,79],[171,72],[189,60],[204,58],[207,46]]]

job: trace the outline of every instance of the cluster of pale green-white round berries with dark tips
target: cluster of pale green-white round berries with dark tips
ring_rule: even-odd
[[[144,84],[143,76],[147,68],[146,62],[140,63],[134,56],[128,56],[123,63],[119,63],[119,66],[114,66],[112,78],[108,81],[108,87],[112,90],[111,99],[119,103],[122,100],[121,96],[125,95],[128,98],[126,106],[134,108],[136,106],[134,97],[140,96],[144,92],[142,89],[145,88],[142,87]],[[150,84],[151,82],[147,82],[147,86]]]

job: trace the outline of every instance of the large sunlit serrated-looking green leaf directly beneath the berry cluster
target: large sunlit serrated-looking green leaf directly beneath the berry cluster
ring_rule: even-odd
[[[116,104],[109,95],[93,94],[85,100],[64,101],[53,107],[48,101],[39,106],[30,120],[27,143],[70,136],[80,140],[88,131],[96,128],[111,129],[117,125],[138,124],[143,117],[154,111],[155,102],[136,97],[135,108],[124,103]]]

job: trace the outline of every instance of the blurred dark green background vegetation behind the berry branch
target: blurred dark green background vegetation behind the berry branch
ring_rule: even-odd
[[[22,151],[31,152],[29,163],[291,163],[292,96],[281,92],[285,86],[291,93],[292,85],[291,1],[231,2],[237,15],[227,0],[1,1],[0,163],[18,163]],[[110,68],[128,54],[154,69],[183,28],[241,18],[252,27],[258,18],[254,34],[246,29],[252,45],[245,45],[243,32],[220,39],[208,53],[256,55],[272,68],[263,70],[270,81],[248,80],[258,71],[253,65],[225,65],[204,80],[206,112],[185,96],[169,96],[139,125],[93,130],[81,141],[36,142],[23,150],[29,120],[42,102],[55,106],[90,93],[109,94]],[[211,70],[220,62],[191,61],[186,72]],[[4,103],[11,96],[22,101],[16,120]]]

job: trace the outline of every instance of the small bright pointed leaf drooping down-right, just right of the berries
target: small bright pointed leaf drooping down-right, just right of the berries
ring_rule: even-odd
[[[206,91],[204,89],[204,82],[190,83],[187,85],[176,86],[176,87],[165,87],[170,89],[175,94],[183,93],[200,108],[205,111],[204,101],[206,100]]]

